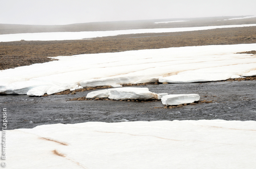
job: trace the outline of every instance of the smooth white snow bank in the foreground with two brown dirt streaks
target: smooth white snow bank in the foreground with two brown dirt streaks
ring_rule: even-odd
[[[255,131],[255,121],[48,124],[7,130],[5,162],[9,169],[252,169]]]

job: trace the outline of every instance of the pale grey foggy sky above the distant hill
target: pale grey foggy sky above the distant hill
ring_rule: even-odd
[[[0,0],[0,24],[256,15],[256,0]]]

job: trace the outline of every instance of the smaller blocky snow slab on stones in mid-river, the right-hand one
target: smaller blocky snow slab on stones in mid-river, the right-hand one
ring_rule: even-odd
[[[165,95],[161,98],[162,103],[166,106],[188,104],[199,100],[200,96],[198,94]]]

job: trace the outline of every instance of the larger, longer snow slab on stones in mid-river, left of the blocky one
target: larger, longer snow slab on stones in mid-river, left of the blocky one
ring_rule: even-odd
[[[113,100],[128,100],[128,99],[157,99],[160,100],[164,95],[168,93],[156,94],[150,92],[148,88],[110,88],[105,90],[98,90],[90,92],[86,95],[86,98],[96,98],[96,97],[108,97]]]

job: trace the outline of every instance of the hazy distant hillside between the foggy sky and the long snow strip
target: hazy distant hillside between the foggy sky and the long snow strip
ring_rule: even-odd
[[[38,33],[38,32],[115,31],[115,30],[127,30],[127,29],[154,29],[154,28],[256,24],[256,18],[227,20],[230,18],[242,18],[242,17],[246,17],[246,16],[91,22],[91,23],[79,23],[79,24],[70,24],[70,25],[0,24],[0,34]],[[154,24],[155,22],[168,22],[168,21],[177,21],[177,20],[186,20],[188,22],[172,22],[172,23]]]

